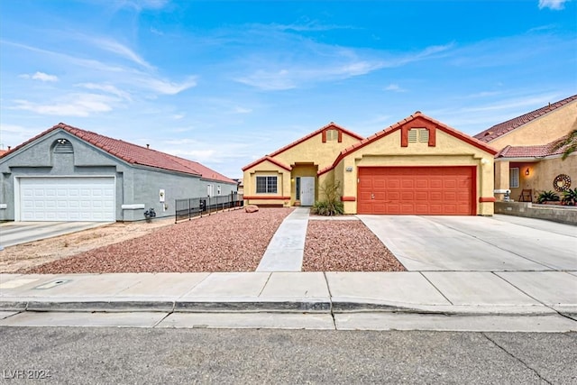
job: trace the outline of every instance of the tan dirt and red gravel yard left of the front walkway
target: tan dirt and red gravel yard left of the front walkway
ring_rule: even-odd
[[[291,211],[235,210],[176,225],[114,224],[6,248],[0,266],[23,273],[253,271]]]

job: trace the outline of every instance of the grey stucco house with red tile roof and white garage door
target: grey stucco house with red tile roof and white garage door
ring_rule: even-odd
[[[137,221],[236,186],[196,161],[60,123],[0,154],[0,220]]]

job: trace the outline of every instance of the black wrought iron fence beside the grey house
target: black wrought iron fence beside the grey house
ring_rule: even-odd
[[[230,194],[218,197],[191,197],[176,199],[175,223],[195,216],[211,215],[217,211],[233,209],[244,205],[243,194]]]

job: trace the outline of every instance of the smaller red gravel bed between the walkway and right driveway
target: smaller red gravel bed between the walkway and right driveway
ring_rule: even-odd
[[[405,271],[361,221],[310,220],[303,271]]]

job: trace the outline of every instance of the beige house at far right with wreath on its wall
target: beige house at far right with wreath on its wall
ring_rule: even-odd
[[[559,176],[571,179],[571,188],[576,188],[577,153],[562,160],[564,148],[555,148],[576,128],[577,95],[573,95],[476,134],[475,138],[499,150],[495,197],[502,200],[507,189],[513,200],[535,202],[541,192],[549,190],[562,196],[565,186],[554,185]]]

